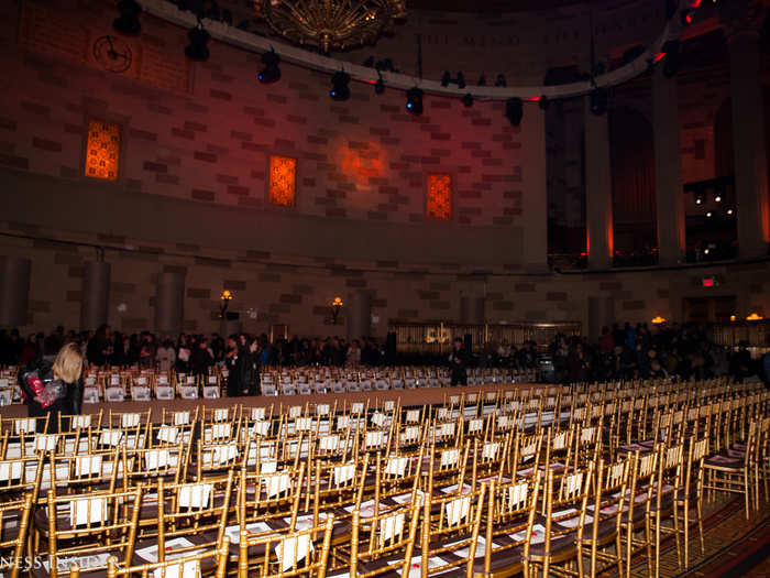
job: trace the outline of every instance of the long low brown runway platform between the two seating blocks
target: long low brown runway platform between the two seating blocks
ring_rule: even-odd
[[[311,395],[251,395],[242,397],[220,397],[217,400],[152,400],[148,402],[102,402],[84,404],[81,413],[92,414],[103,412],[107,416],[113,412],[145,412],[151,411],[150,419],[154,423],[161,422],[163,418],[163,410],[166,411],[195,411],[199,407],[202,412],[204,406],[212,407],[229,407],[234,404],[242,404],[244,407],[270,407],[273,405],[273,414],[287,412],[288,407],[294,405],[310,404],[329,404],[330,408],[337,403],[337,411],[343,406],[350,407],[351,403],[364,402],[369,400],[370,407],[381,405],[385,401],[400,401],[403,407],[415,405],[433,405],[443,403],[449,400],[450,395],[462,395],[470,393],[481,393],[482,395],[488,391],[510,391],[510,390],[548,390],[553,388],[558,390],[558,385],[548,383],[494,383],[488,385],[460,385],[457,388],[419,388],[416,390],[386,390],[386,391],[369,391],[355,393],[326,393]],[[26,405],[14,404],[0,407],[0,417],[26,417]]]

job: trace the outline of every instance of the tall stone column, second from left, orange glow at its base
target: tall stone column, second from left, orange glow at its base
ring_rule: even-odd
[[[609,164],[607,114],[591,112],[583,97],[585,120],[585,246],[590,269],[606,269],[613,262],[613,188]]]

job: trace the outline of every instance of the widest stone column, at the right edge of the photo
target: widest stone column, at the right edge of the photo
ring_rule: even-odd
[[[738,248],[741,259],[767,255],[770,242],[768,151],[759,48],[763,17],[763,7],[754,0],[719,3],[719,18],[729,45]]]

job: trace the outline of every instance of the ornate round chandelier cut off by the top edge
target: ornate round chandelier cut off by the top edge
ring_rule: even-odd
[[[373,43],[406,15],[405,0],[254,0],[254,11],[282,36],[323,53]]]

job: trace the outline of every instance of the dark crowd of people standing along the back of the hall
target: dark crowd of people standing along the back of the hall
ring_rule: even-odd
[[[257,391],[262,366],[382,366],[414,363],[387,355],[382,342],[365,337],[348,341],[340,337],[277,339],[266,335],[211,334],[158,338],[151,331],[123,335],[108,326],[97,331],[65,331],[57,327],[50,335],[0,330],[0,364],[26,366],[42,356],[55,356],[65,343],[76,343],[89,366],[139,366],[161,371],[207,374],[215,364],[240,375],[232,380],[233,394]],[[700,324],[671,324],[648,327],[646,323],[604,327],[598,341],[558,335],[548,346],[526,341],[519,347],[485,343],[480,351],[465,351],[469,367],[512,369],[551,368],[548,381],[558,383],[613,381],[647,378],[688,380],[734,375],[738,380],[759,375],[768,380],[770,356],[752,360],[741,343],[737,350],[714,343],[708,327]],[[544,363],[542,363],[544,361]],[[429,356],[420,363],[452,364],[444,356]]]

